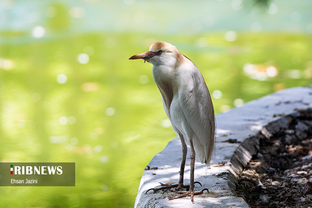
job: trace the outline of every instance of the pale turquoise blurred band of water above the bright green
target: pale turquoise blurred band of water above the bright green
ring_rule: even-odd
[[[41,25],[66,28],[62,32],[67,35],[100,31],[192,36],[228,30],[311,34],[311,9],[309,0],[275,0],[266,8],[241,0],[2,0],[0,29],[29,32]],[[49,35],[56,34],[47,31]]]

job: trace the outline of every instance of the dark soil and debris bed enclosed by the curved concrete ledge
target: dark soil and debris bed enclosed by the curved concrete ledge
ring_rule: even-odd
[[[260,152],[239,176],[236,193],[251,208],[312,207],[312,110],[260,139]]]

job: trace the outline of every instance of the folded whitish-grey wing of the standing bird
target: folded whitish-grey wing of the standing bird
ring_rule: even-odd
[[[188,66],[189,67],[189,66]],[[202,74],[195,65],[187,70],[189,79],[181,83],[179,103],[195,135],[192,137],[196,161],[209,165],[215,143],[215,117],[211,97]]]

